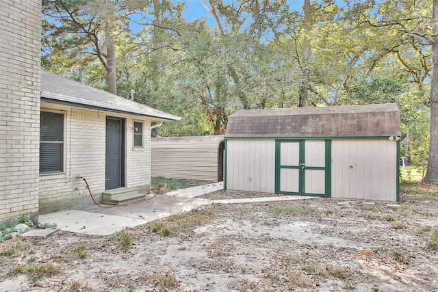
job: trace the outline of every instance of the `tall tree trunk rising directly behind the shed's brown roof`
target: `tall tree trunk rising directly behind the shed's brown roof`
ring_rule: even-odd
[[[307,107],[307,88],[309,88],[309,56],[310,56],[310,16],[309,16],[310,0],[304,0],[304,25],[303,25],[303,47],[301,57],[301,79],[298,107]]]

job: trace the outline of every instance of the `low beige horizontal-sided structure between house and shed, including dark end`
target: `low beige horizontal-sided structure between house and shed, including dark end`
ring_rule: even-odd
[[[223,181],[224,136],[152,138],[152,176]]]

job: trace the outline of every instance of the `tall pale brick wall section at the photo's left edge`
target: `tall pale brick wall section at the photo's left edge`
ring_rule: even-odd
[[[38,220],[41,0],[0,0],[0,224]]]

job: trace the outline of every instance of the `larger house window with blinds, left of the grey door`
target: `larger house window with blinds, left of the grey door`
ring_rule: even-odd
[[[41,111],[40,174],[64,171],[64,114]]]

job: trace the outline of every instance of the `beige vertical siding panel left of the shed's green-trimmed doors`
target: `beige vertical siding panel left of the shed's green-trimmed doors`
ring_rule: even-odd
[[[275,141],[227,141],[227,189],[275,191]]]

